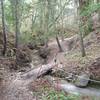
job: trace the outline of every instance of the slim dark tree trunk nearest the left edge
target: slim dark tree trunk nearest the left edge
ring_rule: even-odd
[[[1,9],[2,9],[2,28],[3,28],[3,55],[5,55],[7,49],[7,39],[6,39],[6,31],[5,31],[5,14],[4,14],[3,0],[1,0]]]

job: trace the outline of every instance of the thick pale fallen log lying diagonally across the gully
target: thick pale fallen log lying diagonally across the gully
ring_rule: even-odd
[[[51,62],[50,64],[47,65],[42,65],[41,67],[38,67],[36,69],[33,69],[27,73],[24,73],[21,75],[21,78],[23,79],[36,79],[39,78],[40,76],[46,74],[47,72],[51,71],[52,68],[54,68],[56,64],[54,62]]]

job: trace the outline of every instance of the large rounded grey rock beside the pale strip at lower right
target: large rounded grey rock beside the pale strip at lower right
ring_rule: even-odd
[[[75,85],[78,87],[86,87],[89,83],[90,76],[88,74],[82,74],[75,80]]]

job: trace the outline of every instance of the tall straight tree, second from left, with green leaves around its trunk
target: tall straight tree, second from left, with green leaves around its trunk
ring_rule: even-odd
[[[15,48],[18,47],[19,44],[19,35],[20,35],[20,26],[21,26],[21,17],[23,15],[23,0],[9,0],[10,9],[11,9],[11,18],[12,25],[15,31]]]

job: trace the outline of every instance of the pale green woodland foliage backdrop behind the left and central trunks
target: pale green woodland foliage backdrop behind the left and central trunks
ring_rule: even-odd
[[[36,42],[43,42],[48,38],[55,37],[58,32],[56,32],[56,22],[61,19],[62,13],[64,13],[65,8],[70,0],[18,0],[18,20],[19,20],[19,30],[20,41],[28,42],[33,41],[34,38],[31,37],[31,31],[43,30],[43,34],[37,35],[35,37]],[[48,3],[46,3],[48,2]],[[61,7],[60,7],[61,5]],[[65,7],[66,6],[66,7]],[[66,8],[67,9],[67,8]],[[9,31],[15,31],[15,1],[5,0],[5,17],[6,24],[9,27]],[[24,32],[27,31],[27,32]],[[36,32],[38,34],[38,32]],[[39,36],[39,37],[38,37]]]

